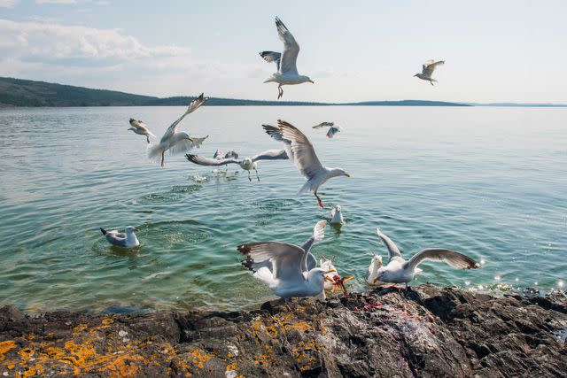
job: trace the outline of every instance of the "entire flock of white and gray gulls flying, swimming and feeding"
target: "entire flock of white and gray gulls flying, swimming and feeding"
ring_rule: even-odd
[[[308,76],[301,75],[297,68],[299,55],[299,43],[285,27],[282,20],[276,17],[276,29],[280,40],[283,42],[281,52],[264,50],[260,52],[261,58],[269,63],[275,63],[277,71],[264,82],[276,82],[278,84],[278,96],[283,96],[284,85],[297,85],[306,82],[315,83]],[[429,81],[431,85],[437,82],[431,77],[436,67],[444,65],[445,61],[430,60],[423,64],[422,72],[414,76]],[[350,177],[350,174],[341,167],[323,166],[315,153],[313,143],[303,134],[298,127],[291,125],[285,120],[277,120],[277,126],[262,125],[264,132],[277,143],[281,143],[280,149],[265,150],[251,158],[239,158],[234,150],[224,153],[217,150],[213,158],[191,154],[190,151],[198,149],[206,141],[206,136],[190,136],[180,131],[182,121],[191,112],[198,110],[206,103],[208,97],[201,94],[190,102],[187,110],[171,126],[167,127],[165,134],[159,143],[151,143],[150,137],[155,137],[142,120],[130,119],[130,128],[137,135],[144,135],[148,143],[148,158],[159,161],[160,166],[165,166],[165,153],[175,155],[186,152],[185,157],[191,163],[199,166],[229,166],[236,165],[248,173],[248,180],[252,181],[251,171],[256,174],[260,181],[257,163],[269,160],[291,160],[293,165],[304,176],[306,182],[299,189],[298,194],[312,192],[317,199],[317,204],[324,208],[322,198],[318,189],[326,182],[335,177]],[[332,138],[342,131],[342,128],[332,121],[324,121],[313,127],[314,129],[328,128],[327,137]],[[324,148],[324,146],[318,146]],[[272,163],[275,164],[275,163]],[[346,221],[341,212],[341,206],[335,205],[330,212],[330,223],[335,227],[341,227]],[[313,234],[301,246],[291,243],[277,241],[254,241],[237,246],[244,257],[242,265],[252,271],[253,276],[263,282],[278,297],[289,300],[291,297],[316,297],[323,299],[325,290],[341,291],[347,296],[345,282],[353,278],[353,275],[340,276],[332,258],[317,259],[311,253],[311,247],[315,242],[324,238],[327,220],[321,220],[315,224]],[[106,231],[100,228],[108,243],[118,248],[137,248],[140,243],[135,234],[135,228],[128,226],[125,233],[118,231]],[[378,238],[384,243],[388,251],[387,264],[384,266],[382,257],[374,254],[370,260],[366,282],[369,286],[384,285],[386,283],[411,282],[416,274],[421,272],[419,266],[425,260],[443,261],[449,266],[460,269],[471,269],[479,267],[472,258],[462,253],[443,248],[429,248],[416,253],[412,258],[406,260],[401,256],[400,250],[392,240],[376,229]]]

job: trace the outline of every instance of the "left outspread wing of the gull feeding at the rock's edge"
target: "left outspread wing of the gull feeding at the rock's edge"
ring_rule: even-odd
[[[243,265],[253,272],[271,262],[274,278],[285,281],[305,280],[301,266],[305,265],[307,253],[297,245],[260,242],[239,245],[237,250],[246,256]]]

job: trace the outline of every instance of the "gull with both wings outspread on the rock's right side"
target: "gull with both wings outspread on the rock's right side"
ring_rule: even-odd
[[[476,269],[480,267],[478,262],[462,253],[445,250],[442,248],[428,248],[417,252],[412,258],[406,260],[401,257],[400,250],[392,240],[384,235],[380,228],[376,228],[376,233],[388,249],[388,265],[378,268],[374,282],[394,282],[406,284],[412,281],[421,269],[417,268],[424,260],[445,261],[448,265],[458,269]]]

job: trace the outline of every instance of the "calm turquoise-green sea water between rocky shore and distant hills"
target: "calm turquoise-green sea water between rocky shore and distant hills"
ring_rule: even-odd
[[[251,308],[271,299],[240,266],[239,243],[303,243],[329,216],[298,197],[290,161],[260,163],[261,181],[212,174],[183,156],[145,158],[181,107],[2,109],[0,305],[50,309]],[[377,226],[411,256],[425,247],[462,251],[485,266],[423,264],[416,283],[472,289],[495,284],[553,289],[567,268],[567,109],[436,107],[205,107],[183,129],[241,156],[278,148],[262,123],[288,120],[327,166],[352,178],[320,190],[346,225],[328,228],[315,255],[364,288],[370,251],[385,255]],[[335,120],[329,140],[310,127]],[[195,181],[200,175],[208,181]],[[113,250],[99,227],[132,225],[142,246]]]

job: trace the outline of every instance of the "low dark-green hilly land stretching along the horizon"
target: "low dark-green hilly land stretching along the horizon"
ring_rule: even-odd
[[[194,96],[156,97],[106,89],[89,89],[45,81],[0,77],[0,107],[7,106],[184,106]],[[357,103],[314,103],[305,101],[261,101],[211,97],[209,106],[541,106],[567,107],[567,104],[477,104],[446,101],[401,100]]]

